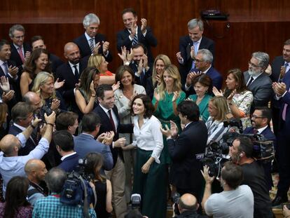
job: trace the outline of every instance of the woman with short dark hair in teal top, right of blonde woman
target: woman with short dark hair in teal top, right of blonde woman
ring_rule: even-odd
[[[195,95],[189,95],[188,97],[198,104],[200,109],[200,120],[206,122],[209,118],[209,100],[211,100],[212,95],[208,93],[212,90],[212,79],[207,76],[207,74],[200,74],[193,80],[193,88],[195,90]]]

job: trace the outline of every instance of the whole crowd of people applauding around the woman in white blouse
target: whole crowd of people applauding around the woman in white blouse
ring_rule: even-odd
[[[25,41],[22,25],[9,30],[11,43],[0,40],[0,217],[83,217],[83,207],[60,200],[80,158],[97,194],[89,217],[166,217],[173,193],[181,195],[176,217],[273,217],[290,186],[290,39],[272,63],[254,52],[247,71],[229,69],[223,78],[202,20],[188,22],[175,66],[167,55],[153,57],[158,41],[145,18],[132,8],[121,15],[118,57],[93,13],[84,34],[64,45],[67,62],[41,36]],[[113,58],[123,64],[112,73]],[[240,129],[224,125],[233,120]],[[202,166],[233,130],[272,141],[279,172],[272,202],[272,161],[254,156],[249,137],[233,139],[219,178]],[[132,193],[141,196],[135,215]]]

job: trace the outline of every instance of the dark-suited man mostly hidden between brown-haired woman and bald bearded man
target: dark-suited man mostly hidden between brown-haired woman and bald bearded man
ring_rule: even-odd
[[[46,49],[46,44],[41,36],[32,37],[32,50],[35,50],[36,48]],[[57,55],[53,55],[52,53],[48,53],[48,59],[50,61],[50,67],[53,73],[55,73],[57,67],[60,67],[60,65],[64,63],[60,60],[60,57],[57,57]]]

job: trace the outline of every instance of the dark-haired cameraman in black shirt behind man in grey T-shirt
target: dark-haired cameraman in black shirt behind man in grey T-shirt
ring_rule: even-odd
[[[242,184],[250,186],[254,194],[254,217],[272,218],[272,205],[265,181],[263,166],[252,158],[253,143],[249,137],[237,137],[230,147],[233,163],[242,167],[244,179]]]

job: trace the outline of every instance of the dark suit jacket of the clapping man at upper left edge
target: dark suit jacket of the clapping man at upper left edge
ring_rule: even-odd
[[[8,67],[12,66],[15,67],[15,62],[13,62],[12,60],[8,60],[7,61]],[[5,72],[3,71],[2,67],[0,67],[0,76],[6,76]],[[17,103],[17,102],[21,102],[22,100],[22,95],[21,95],[21,91],[20,91],[20,71],[18,70],[18,79],[13,79],[11,76],[6,76],[6,78],[8,77],[8,81],[10,84],[10,89],[14,90],[14,100],[11,100],[11,102],[13,102],[13,106]],[[1,93],[2,96],[2,93]]]

